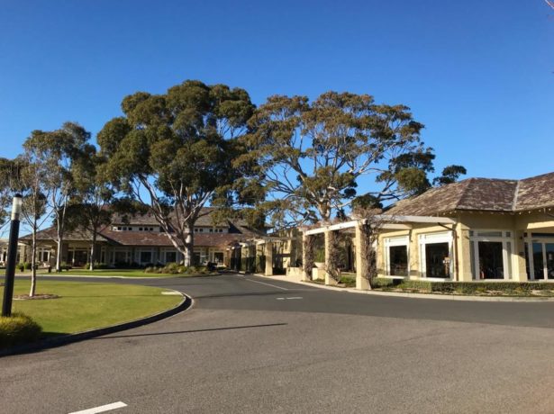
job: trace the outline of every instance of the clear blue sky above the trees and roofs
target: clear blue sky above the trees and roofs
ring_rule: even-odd
[[[124,95],[185,79],[404,103],[437,169],[554,171],[554,10],[543,0],[0,0],[0,157],[31,130],[94,135]]]

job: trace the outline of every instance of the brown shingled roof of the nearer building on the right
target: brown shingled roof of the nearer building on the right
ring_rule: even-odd
[[[554,206],[554,173],[522,180],[468,178],[397,202],[388,214],[434,216],[451,211],[515,212]]]

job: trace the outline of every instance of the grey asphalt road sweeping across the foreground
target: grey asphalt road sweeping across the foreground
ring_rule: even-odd
[[[376,297],[241,275],[132,283],[188,293],[194,307],[0,358],[0,412],[119,401],[106,412],[554,412],[554,302]]]

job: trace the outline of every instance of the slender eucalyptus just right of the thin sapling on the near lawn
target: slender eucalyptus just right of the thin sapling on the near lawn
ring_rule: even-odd
[[[24,146],[33,151],[43,172],[43,186],[50,194],[48,205],[56,226],[56,271],[61,270],[61,252],[66,215],[75,193],[74,166],[86,155],[90,132],[75,122],[65,122],[59,130],[35,131]]]

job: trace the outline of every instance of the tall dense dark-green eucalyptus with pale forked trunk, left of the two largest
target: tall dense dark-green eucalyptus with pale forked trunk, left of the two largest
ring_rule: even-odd
[[[126,96],[122,109],[124,116],[98,134],[108,172],[148,206],[190,266],[203,206],[233,198],[239,171],[232,159],[254,110],[250,96],[240,88],[187,80],[166,94]]]

